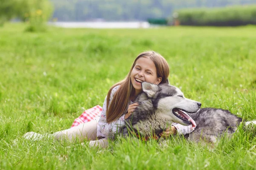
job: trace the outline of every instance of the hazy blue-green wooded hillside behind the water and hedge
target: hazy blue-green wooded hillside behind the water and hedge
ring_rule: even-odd
[[[171,17],[174,10],[256,3],[256,0],[51,0],[61,21],[147,20]]]

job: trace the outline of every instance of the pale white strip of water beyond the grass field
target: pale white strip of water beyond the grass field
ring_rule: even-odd
[[[148,22],[53,22],[49,25],[64,28],[149,28]]]

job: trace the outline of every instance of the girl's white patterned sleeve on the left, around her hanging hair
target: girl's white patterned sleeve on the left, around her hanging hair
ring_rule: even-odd
[[[113,95],[115,94],[116,90],[119,88],[119,86],[116,86],[111,91],[110,101],[111,103],[113,99]],[[107,97],[105,98],[105,101],[103,103],[102,112],[99,118],[98,125],[100,129],[97,130],[97,136],[111,136],[111,134],[116,133],[121,127],[125,126],[125,115],[122,115],[119,117],[119,119],[107,123]]]

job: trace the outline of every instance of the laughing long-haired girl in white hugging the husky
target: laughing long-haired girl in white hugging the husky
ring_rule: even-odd
[[[68,139],[71,142],[79,138],[80,141],[88,139],[90,146],[108,146],[108,136],[118,133],[118,129],[125,126],[125,119],[131,116],[138,106],[134,99],[142,92],[141,82],[160,84],[168,81],[169,65],[160,54],[146,51],[137,56],[128,75],[121,82],[113,85],[105,98],[102,112],[99,117],[90,122],[53,133],[55,139]],[[194,130],[192,125],[183,126],[173,123],[171,128],[160,133],[167,137],[171,134],[186,134]],[[38,133],[28,132],[26,139],[41,139]]]

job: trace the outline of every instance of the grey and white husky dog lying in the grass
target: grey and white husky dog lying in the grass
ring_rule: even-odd
[[[177,122],[196,127],[185,136],[191,141],[214,143],[221,134],[234,133],[242,122],[240,117],[227,110],[200,109],[200,102],[186,99],[179,88],[168,83],[154,85],[142,82],[142,90],[135,99],[139,106],[126,119],[126,126],[121,129],[124,136],[131,132],[139,133],[142,137],[151,136],[162,132],[172,122]]]

